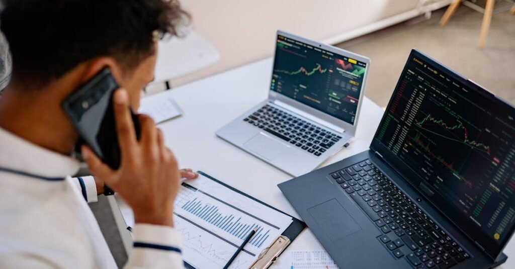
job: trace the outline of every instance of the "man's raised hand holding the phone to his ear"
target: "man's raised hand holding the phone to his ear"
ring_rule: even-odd
[[[174,154],[165,146],[161,130],[147,115],[139,115],[141,139],[136,140],[127,92],[114,93],[116,131],[121,165],[112,170],[86,146],[82,156],[94,176],[121,195],[134,211],[136,223],[173,226],[174,200],[181,173]]]

